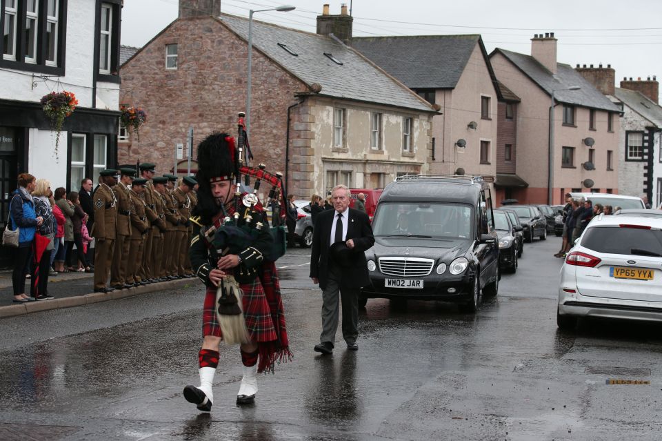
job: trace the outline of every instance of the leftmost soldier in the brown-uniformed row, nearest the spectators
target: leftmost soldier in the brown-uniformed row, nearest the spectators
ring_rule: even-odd
[[[94,192],[94,292],[110,293],[108,275],[112,264],[115,237],[117,234],[117,199],[111,187],[117,184],[117,170],[108,168],[99,174],[99,186]]]

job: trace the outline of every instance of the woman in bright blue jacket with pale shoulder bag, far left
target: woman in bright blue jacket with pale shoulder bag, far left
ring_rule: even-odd
[[[32,256],[32,242],[37,226],[43,222],[42,217],[37,217],[34,211],[34,201],[30,193],[34,190],[34,176],[29,173],[19,175],[19,188],[14,191],[12,202],[10,202],[10,226],[13,231],[19,230],[18,246],[15,259],[14,271],[12,273],[12,285],[14,287],[14,303],[26,303],[32,299],[26,291],[26,268]]]

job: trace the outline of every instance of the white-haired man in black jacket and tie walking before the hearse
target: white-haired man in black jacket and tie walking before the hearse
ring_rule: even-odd
[[[310,255],[310,277],[322,289],[322,333],[314,349],[323,354],[333,353],[339,293],[343,338],[348,349],[359,349],[359,289],[370,284],[364,251],[374,244],[368,215],[349,208],[349,188],[335,186],[331,196],[334,209],[317,215]]]

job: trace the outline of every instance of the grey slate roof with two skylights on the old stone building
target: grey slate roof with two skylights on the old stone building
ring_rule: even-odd
[[[230,14],[221,14],[217,19],[248,41],[248,19]],[[287,45],[297,56],[278,43]],[[252,44],[309,88],[320,84],[322,89],[317,95],[434,112],[414,92],[332,37],[253,20]],[[332,54],[342,65],[325,53]]]

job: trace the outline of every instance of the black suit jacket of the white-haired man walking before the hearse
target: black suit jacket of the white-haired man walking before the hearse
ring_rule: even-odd
[[[328,280],[331,226],[336,213],[336,210],[324,210],[319,213],[312,236],[310,277],[317,277],[319,287],[322,289],[326,287]],[[350,253],[347,266],[343,266],[343,286],[361,288],[370,284],[368,262],[365,260],[364,252],[374,245],[374,235],[372,226],[370,226],[370,218],[362,211],[350,208],[348,222],[345,240],[354,239],[354,248]]]

